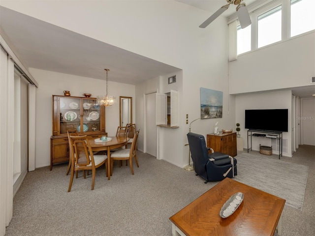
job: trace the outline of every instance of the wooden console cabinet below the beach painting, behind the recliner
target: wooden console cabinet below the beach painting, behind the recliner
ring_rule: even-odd
[[[232,157],[237,155],[236,132],[207,134],[207,147]]]

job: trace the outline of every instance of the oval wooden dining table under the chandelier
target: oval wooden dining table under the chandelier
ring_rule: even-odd
[[[107,137],[105,141],[102,141],[100,138],[99,139],[88,139],[90,146],[92,148],[93,152],[96,151],[107,151],[107,174],[108,174],[108,180],[112,176],[113,173],[111,173],[111,168],[110,168],[110,150],[114,148],[121,148],[121,147],[126,147],[128,141],[130,138],[126,137]]]

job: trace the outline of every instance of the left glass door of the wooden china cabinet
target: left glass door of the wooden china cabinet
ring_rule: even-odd
[[[81,99],[72,97],[60,97],[59,108],[59,135],[67,134],[67,130],[77,130],[77,128],[80,127]]]

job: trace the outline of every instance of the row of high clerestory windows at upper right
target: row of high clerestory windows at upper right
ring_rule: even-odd
[[[237,25],[237,55],[315,30],[314,12],[315,0],[274,0],[251,9],[252,25]]]

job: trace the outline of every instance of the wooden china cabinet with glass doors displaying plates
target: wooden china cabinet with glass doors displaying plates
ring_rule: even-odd
[[[76,131],[91,138],[107,135],[105,107],[96,98],[53,95],[50,170],[53,164],[69,161],[67,131]]]

